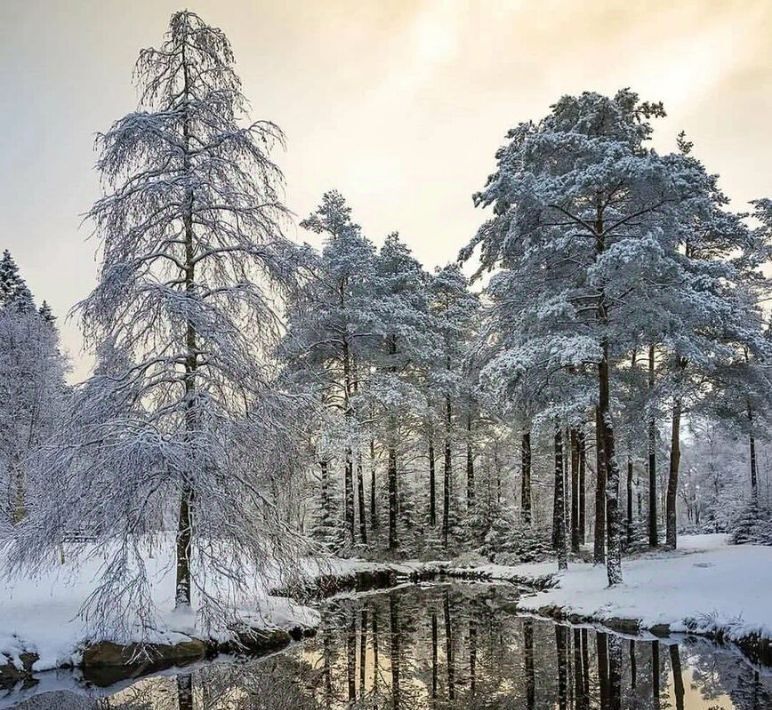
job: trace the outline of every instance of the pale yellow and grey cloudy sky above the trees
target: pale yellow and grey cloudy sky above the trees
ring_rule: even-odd
[[[740,209],[772,196],[770,0],[190,0],[231,40],[252,118],[286,132],[286,200],[337,188],[380,243],[399,230],[427,267],[483,213],[471,194],[515,123],[561,94],[630,86],[662,100],[656,145],[686,130]],[[94,285],[80,215],[99,195],[94,133],[133,110],[132,68],[167,0],[0,0],[0,249],[60,318]],[[299,221],[298,219],[298,221]],[[291,236],[305,239],[292,227]]]

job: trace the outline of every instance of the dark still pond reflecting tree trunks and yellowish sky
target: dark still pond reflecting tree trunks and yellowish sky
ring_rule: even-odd
[[[772,675],[707,640],[627,638],[514,612],[508,585],[406,585],[327,600],[316,637],[106,689],[6,696],[24,710],[772,708]],[[42,689],[42,688],[41,688]],[[33,689],[27,691],[34,692]],[[1,695],[0,695],[1,697]],[[0,701],[2,703],[2,701]]]

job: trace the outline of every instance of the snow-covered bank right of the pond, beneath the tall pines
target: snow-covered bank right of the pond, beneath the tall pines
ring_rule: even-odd
[[[637,619],[643,628],[723,631],[728,638],[772,637],[772,547],[730,546],[725,535],[679,538],[676,552],[647,553],[623,561],[624,584],[609,588],[602,565],[555,563],[478,568],[491,579],[554,574],[557,585],[523,597],[519,607],[559,606],[566,614],[595,620]]]

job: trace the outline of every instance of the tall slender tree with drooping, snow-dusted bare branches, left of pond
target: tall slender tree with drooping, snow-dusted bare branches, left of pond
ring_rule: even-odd
[[[140,53],[140,107],[98,138],[101,265],[78,310],[87,342],[120,354],[88,385],[98,404],[105,384],[111,409],[95,430],[64,427],[76,438],[46,462],[55,495],[14,549],[40,568],[69,528],[94,521],[106,562],[90,609],[138,614],[145,631],[151,513],[174,530],[176,606],[195,589],[221,628],[245,586],[277,562],[290,570],[300,544],[270,494],[298,460],[299,407],[272,387],[265,357],[276,299],[297,276],[269,156],[282,134],[244,122],[233,65],[221,30],[176,12],[163,44]]]

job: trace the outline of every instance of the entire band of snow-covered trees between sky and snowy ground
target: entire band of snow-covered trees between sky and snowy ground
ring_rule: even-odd
[[[96,541],[90,603],[143,609],[142,560],[168,544],[177,605],[196,589],[216,619],[205,581],[277,561],[291,579],[320,548],[560,567],[586,549],[613,585],[687,529],[772,543],[772,202],[731,210],[683,134],[655,151],[660,104],[586,92],[511,129],[477,233],[429,270],[336,190],[300,222],[321,249],[284,236],[284,136],[247,120],[196,14],[135,77],[140,105],[98,139],[87,381],[65,384],[50,309],[0,263],[14,569]]]

